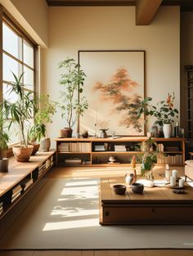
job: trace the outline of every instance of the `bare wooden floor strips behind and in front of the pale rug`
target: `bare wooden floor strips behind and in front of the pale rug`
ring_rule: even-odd
[[[183,167],[176,168],[183,175]],[[50,177],[114,177],[128,171],[124,168],[52,168]],[[156,171],[159,171],[157,168]],[[135,250],[16,250],[0,251],[0,256],[192,256],[193,249]]]

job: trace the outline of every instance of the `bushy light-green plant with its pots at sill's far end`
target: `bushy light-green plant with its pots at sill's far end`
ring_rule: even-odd
[[[36,148],[32,155],[38,151],[39,145],[41,151],[50,149],[51,141],[46,137],[46,124],[52,123],[52,115],[56,113],[56,102],[51,101],[48,94],[43,94],[36,101],[34,113],[34,125],[29,128],[29,141]]]

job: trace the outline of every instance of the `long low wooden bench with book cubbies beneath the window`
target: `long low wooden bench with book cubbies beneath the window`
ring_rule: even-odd
[[[0,173],[0,219],[52,168],[55,153],[56,150],[38,152],[26,163],[17,162],[15,157],[9,159],[8,173]],[[29,186],[25,189],[26,182]],[[16,194],[15,200],[13,195],[17,187],[21,187],[21,191]]]

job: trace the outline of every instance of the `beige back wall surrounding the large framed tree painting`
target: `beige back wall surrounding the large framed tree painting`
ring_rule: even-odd
[[[59,61],[77,59],[79,50],[145,50],[146,96],[163,100],[168,92],[180,97],[179,7],[161,7],[151,25],[135,25],[135,7],[50,7],[50,47],[42,52],[42,92],[60,96]],[[57,113],[51,137],[65,122]],[[75,130],[75,129],[74,129]]]

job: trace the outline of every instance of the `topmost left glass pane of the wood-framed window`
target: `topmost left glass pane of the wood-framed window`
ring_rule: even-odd
[[[21,38],[13,32],[4,22],[2,24],[2,48],[12,56],[20,59],[21,56]]]

